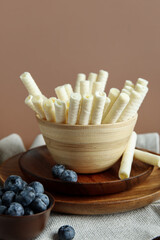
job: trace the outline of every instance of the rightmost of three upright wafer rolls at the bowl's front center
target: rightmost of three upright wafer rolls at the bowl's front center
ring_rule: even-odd
[[[92,106],[91,124],[93,125],[101,124],[105,101],[106,101],[105,92],[95,93]]]

